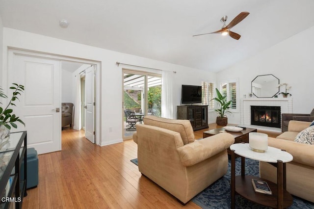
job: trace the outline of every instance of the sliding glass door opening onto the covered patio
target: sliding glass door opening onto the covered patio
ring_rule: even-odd
[[[161,115],[161,75],[123,70],[123,139],[132,138],[145,115]],[[129,119],[129,111],[135,119]]]

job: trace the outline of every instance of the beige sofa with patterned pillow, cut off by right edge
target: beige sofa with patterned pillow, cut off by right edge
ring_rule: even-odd
[[[286,150],[293,156],[287,163],[287,190],[291,194],[314,202],[314,145],[294,142],[297,134],[310,126],[310,122],[290,121],[288,131],[268,138],[268,145]],[[269,163],[260,162],[260,176],[277,182],[276,168]]]

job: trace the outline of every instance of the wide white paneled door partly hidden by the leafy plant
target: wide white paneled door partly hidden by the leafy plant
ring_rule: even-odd
[[[8,72],[8,85],[18,83],[25,91],[16,102],[16,114],[26,127],[27,146],[38,154],[61,150],[60,62],[52,59],[14,55],[13,68]]]

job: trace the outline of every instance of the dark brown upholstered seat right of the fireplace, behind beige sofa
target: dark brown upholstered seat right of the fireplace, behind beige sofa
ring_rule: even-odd
[[[281,114],[281,131],[288,131],[289,121],[314,121],[314,109],[310,114],[294,114],[294,113],[283,113]]]

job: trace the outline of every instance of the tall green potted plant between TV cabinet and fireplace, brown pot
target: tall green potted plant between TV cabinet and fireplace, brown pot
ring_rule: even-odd
[[[226,126],[228,124],[226,113],[231,113],[228,109],[230,108],[232,101],[227,102],[227,95],[222,95],[217,88],[216,95],[217,97],[214,98],[214,100],[218,103],[218,108],[215,109],[215,111],[218,112],[216,123],[219,126]]]

